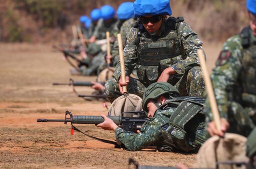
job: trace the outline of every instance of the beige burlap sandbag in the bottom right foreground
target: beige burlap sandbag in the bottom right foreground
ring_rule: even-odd
[[[224,138],[214,135],[200,147],[196,161],[199,168],[216,168],[216,161],[248,161],[246,157],[246,137],[225,133]],[[245,165],[219,164],[218,168],[245,168]]]

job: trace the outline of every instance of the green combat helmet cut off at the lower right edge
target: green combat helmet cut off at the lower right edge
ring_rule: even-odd
[[[252,158],[256,155],[256,127],[250,132],[247,137],[246,155]]]

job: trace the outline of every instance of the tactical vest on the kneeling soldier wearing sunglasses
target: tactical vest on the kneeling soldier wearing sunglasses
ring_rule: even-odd
[[[168,17],[167,20],[163,20],[164,27],[160,27],[162,29],[160,36],[151,36],[142,24],[136,25],[138,32],[135,44],[139,59],[137,64],[139,80],[155,82],[160,72],[182,59],[181,44],[176,30],[179,22],[183,20],[183,17]]]

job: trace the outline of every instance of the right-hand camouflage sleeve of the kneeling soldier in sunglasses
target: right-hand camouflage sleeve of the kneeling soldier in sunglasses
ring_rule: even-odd
[[[193,66],[199,65],[197,50],[202,49],[202,42],[188,24],[180,22],[178,26],[178,38],[181,44],[182,60],[171,65],[178,74],[183,74]]]

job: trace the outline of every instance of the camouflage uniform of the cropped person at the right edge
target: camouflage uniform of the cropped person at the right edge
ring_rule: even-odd
[[[228,132],[247,136],[256,124],[256,37],[249,26],[242,32],[223,44],[211,81],[220,117],[230,123]],[[208,99],[204,111],[206,122],[213,120]]]

